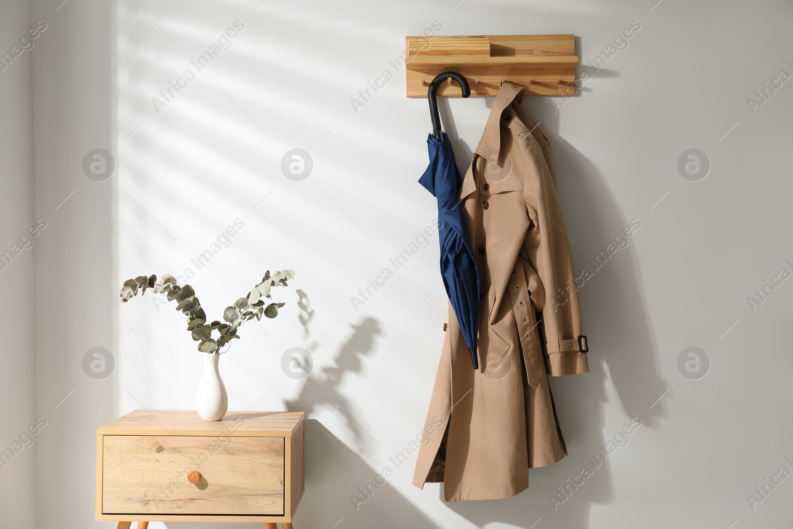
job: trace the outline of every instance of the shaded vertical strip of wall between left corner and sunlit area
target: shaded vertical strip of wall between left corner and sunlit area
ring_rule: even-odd
[[[113,420],[113,377],[82,368],[93,347],[112,347],[111,182],[82,159],[111,148],[113,6],[33,2],[47,29],[33,62],[36,218],[36,412],[47,426],[36,448],[35,527],[94,524],[96,428]]]

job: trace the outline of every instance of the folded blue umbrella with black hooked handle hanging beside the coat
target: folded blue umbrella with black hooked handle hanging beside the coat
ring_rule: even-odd
[[[432,80],[428,91],[433,133],[427,138],[430,165],[419,183],[438,199],[438,235],[441,245],[441,275],[446,294],[457,316],[465,345],[471,354],[473,369],[479,369],[477,327],[479,323],[479,271],[473,259],[468,228],[458,204],[460,171],[454,162],[449,137],[441,132],[435,92],[446,79],[454,79],[462,88],[462,97],[471,94],[468,82],[454,71],[446,71]]]

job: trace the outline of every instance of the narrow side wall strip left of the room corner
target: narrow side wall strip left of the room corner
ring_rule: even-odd
[[[0,53],[5,56],[30,28],[30,8],[23,0],[3,2],[0,6]],[[26,44],[29,47],[29,44]],[[36,500],[34,466],[35,438],[23,438],[26,428],[36,422],[36,380],[34,343],[35,286],[33,255],[36,240],[20,241],[33,220],[33,101],[25,94],[31,90],[32,52],[17,48],[17,56],[3,63],[0,71],[0,253],[12,251],[0,269],[0,320],[5,322],[6,339],[0,347],[0,526],[34,527]],[[2,58],[2,57],[0,57]],[[22,242],[25,246],[22,246]],[[17,247],[14,247],[14,244]],[[18,252],[18,253],[17,253]],[[30,445],[33,440],[33,444]],[[25,444],[22,443],[25,442]],[[14,446],[14,443],[17,443]],[[25,446],[30,445],[30,446]],[[18,450],[18,451],[17,451]],[[10,460],[9,460],[10,458]],[[28,490],[26,491],[25,488]]]

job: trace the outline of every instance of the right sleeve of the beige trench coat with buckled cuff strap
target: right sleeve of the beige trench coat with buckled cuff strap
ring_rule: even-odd
[[[553,377],[588,373],[587,355],[580,351],[581,312],[570,244],[561,217],[554,174],[550,171],[536,140],[526,140],[524,194],[531,227],[523,253],[536,271],[529,288],[534,308],[541,312],[539,327],[545,343],[546,366]],[[531,274],[532,271],[529,270]],[[586,338],[581,339],[584,351]]]

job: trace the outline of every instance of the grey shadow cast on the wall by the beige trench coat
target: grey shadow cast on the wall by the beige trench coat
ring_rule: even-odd
[[[484,104],[492,108],[492,102],[493,98],[487,98]],[[575,104],[575,100],[569,104]],[[440,106],[445,114],[446,130],[454,131],[448,103],[442,101]],[[539,128],[553,150],[566,228],[577,241],[571,243],[577,275],[583,268],[592,271],[592,278],[579,288],[584,332],[591,349],[590,373],[550,379],[561,427],[567,433],[568,457],[554,465],[530,470],[529,489],[518,496],[451,502],[446,506],[477,527],[497,521],[528,528],[540,518],[542,527],[586,527],[592,504],[609,504],[618,494],[623,494],[611,476],[611,458],[630,460],[630,445],[641,443],[642,427],[655,429],[665,416],[664,401],[658,399],[668,384],[658,374],[659,358],[654,343],[658,333],[642,314],[647,309],[634,251],[621,250],[597,269],[588,262],[613,243],[631,219],[638,218],[642,223],[651,220],[645,218],[644,208],[623,214],[596,166],[558,136],[559,114],[554,112],[549,100],[524,98],[523,107],[535,123],[541,123]],[[458,138],[452,138],[452,143],[463,172],[473,153]],[[632,240],[638,239],[641,230]],[[613,426],[613,432],[604,430],[607,377],[611,378],[625,413],[624,420]],[[619,428],[631,424],[634,417],[642,426],[629,428],[631,434],[626,435]],[[589,473],[583,473],[584,468]],[[437,497],[441,503],[442,492]]]

